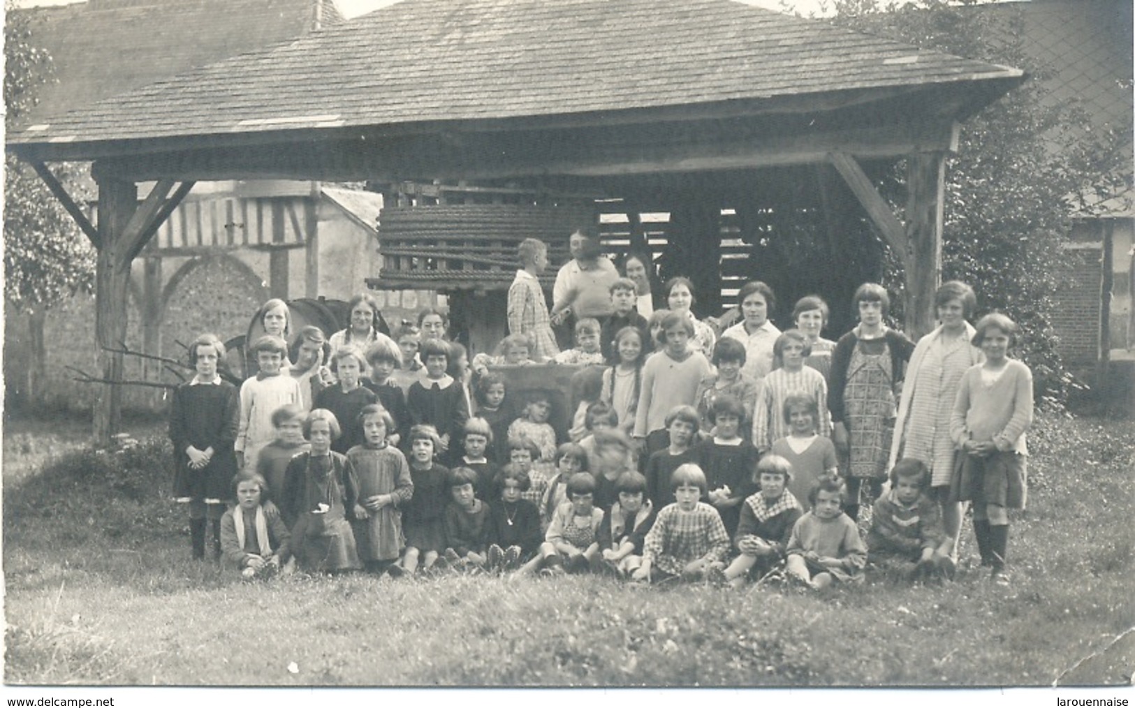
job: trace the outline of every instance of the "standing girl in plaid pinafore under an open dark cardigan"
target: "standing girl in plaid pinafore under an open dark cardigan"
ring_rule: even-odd
[[[827,407],[832,413],[832,441],[847,460],[842,465],[848,484],[847,514],[856,520],[860,486],[869,486],[874,500],[886,479],[896,391],[900,390],[902,366],[915,345],[883,323],[891,305],[883,286],[860,285],[851,303],[859,324],[835,344]]]

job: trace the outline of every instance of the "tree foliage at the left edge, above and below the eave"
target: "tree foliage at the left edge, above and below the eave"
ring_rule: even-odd
[[[36,92],[52,78],[51,58],[35,47],[26,15],[8,8],[5,23],[3,98],[10,130],[36,104]],[[5,155],[5,298],[22,312],[52,306],[94,285],[94,250],[34,170]],[[76,168],[56,167],[73,196]]]

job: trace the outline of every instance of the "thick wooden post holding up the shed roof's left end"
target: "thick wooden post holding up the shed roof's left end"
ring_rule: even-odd
[[[95,263],[94,330],[99,344],[102,379],[123,380],[121,347],[126,343],[127,293],[131,280],[131,244],[126,227],[137,210],[137,185],[133,182],[99,182],[99,238]],[[108,349],[116,349],[109,352]],[[121,425],[123,388],[102,385],[94,407],[94,439],[109,444]]]

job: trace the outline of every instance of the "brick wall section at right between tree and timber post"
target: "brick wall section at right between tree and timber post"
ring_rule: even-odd
[[[1069,364],[1094,364],[1100,353],[1100,288],[1103,281],[1099,247],[1078,245],[1065,251],[1062,273],[1068,284],[1056,294],[1059,306],[1052,327],[1060,354]]]

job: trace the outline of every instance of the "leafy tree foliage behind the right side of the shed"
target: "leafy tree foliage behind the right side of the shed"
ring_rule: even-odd
[[[833,22],[1031,75],[961,126],[958,153],[947,166],[942,277],[969,283],[982,311],[1003,311],[1020,324],[1018,353],[1039,394],[1060,402],[1073,384],[1051,326],[1060,306],[1060,244],[1073,213],[1088,213],[1096,195],[1129,188],[1121,146],[1130,125],[1100,129],[1078,104],[1052,100],[1041,81],[1049,68],[1023,45],[1020,11],[994,14],[976,5],[835,0]],[[899,204],[902,180],[897,169],[884,185]],[[902,280],[890,285],[901,290]]]

